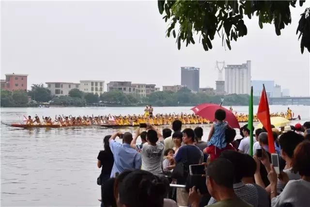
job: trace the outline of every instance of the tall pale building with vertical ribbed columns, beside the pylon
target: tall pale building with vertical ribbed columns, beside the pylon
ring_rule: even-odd
[[[246,64],[228,64],[225,67],[225,91],[227,94],[250,94],[251,61]]]

